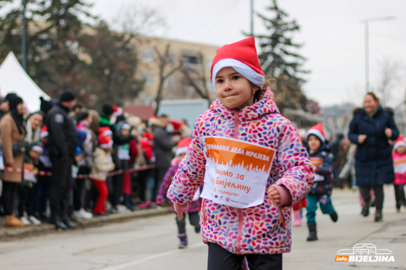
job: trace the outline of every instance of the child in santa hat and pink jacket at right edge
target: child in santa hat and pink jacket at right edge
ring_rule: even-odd
[[[402,135],[399,135],[395,141],[392,152],[393,167],[395,170],[395,189],[396,212],[400,212],[400,206],[406,208],[406,198],[404,197],[403,186],[406,184],[406,141]]]

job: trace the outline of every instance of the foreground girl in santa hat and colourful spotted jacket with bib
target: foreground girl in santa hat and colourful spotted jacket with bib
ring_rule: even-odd
[[[201,194],[208,269],[282,269],[291,250],[291,208],[314,171],[293,124],[280,115],[265,82],[254,37],[217,50],[211,81],[217,99],[197,119],[192,143],[169,187],[179,219]]]

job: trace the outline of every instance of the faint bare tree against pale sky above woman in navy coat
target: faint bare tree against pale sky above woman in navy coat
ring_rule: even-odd
[[[380,76],[377,85],[377,93],[381,97],[381,104],[388,106],[392,101],[394,89],[399,86],[401,76],[399,74],[401,63],[397,60],[385,58],[378,61]]]

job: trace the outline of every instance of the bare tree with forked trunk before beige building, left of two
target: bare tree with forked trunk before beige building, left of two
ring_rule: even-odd
[[[164,83],[165,81],[176,71],[182,68],[182,62],[180,61],[177,66],[165,72],[166,66],[169,63],[169,44],[167,44],[165,52],[162,54],[157,47],[154,47],[155,52],[158,55],[158,63],[159,63],[159,70],[160,70],[160,83],[158,86],[157,96],[155,97],[155,102],[157,104],[157,108],[155,108],[155,115],[158,114],[159,106],[162,100],[162,92],[164,90]]]

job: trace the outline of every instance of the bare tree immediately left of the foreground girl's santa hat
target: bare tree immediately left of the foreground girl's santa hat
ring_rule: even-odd
[[[184,75],[184,78],[186,81],[191,85],[195,91],[199,94],[204,99],[207,99],[209,103],[211,103],[210,96],[209,96],[209,90],[207,89],[207,84],[206,84],[206,72],[205,72],[205,66],[204,66],[204,57],[202,53],[199,53],[200,57],[200,71],[193,69],[193,68],[188,68],[187,66],[182,66],[181,71]]]

